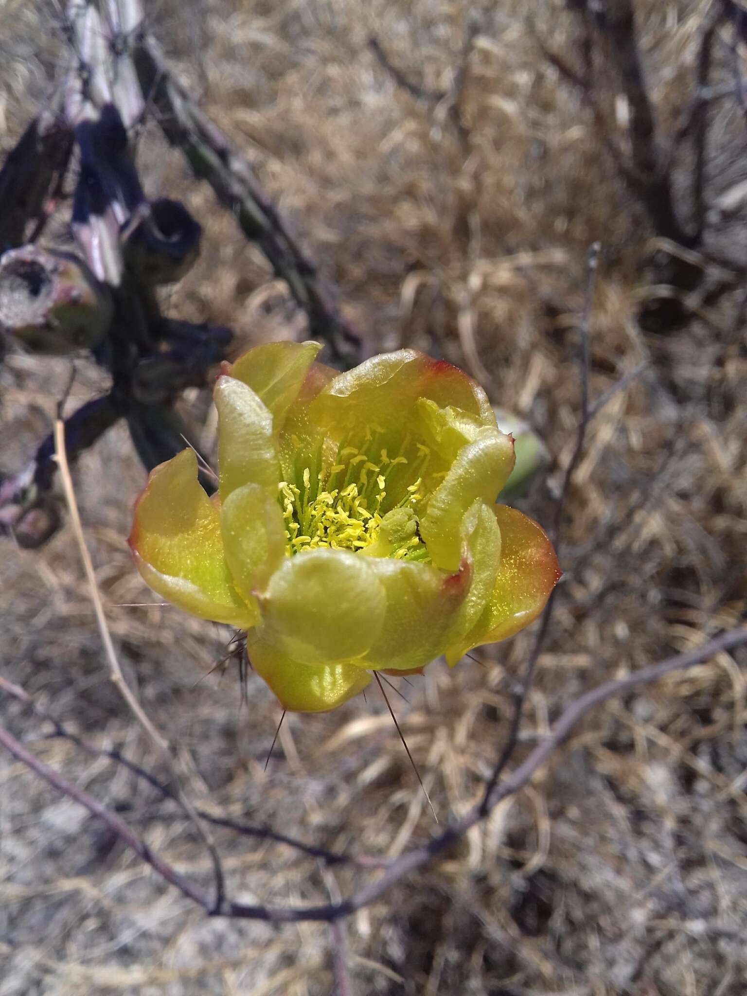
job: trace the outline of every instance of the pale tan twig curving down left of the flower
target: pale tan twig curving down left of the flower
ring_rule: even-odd
[[[65,422],[59,417],[55,421],[55,452],[60,468],[60,477],[63,482],[63,489],[65,491],[65,498],[68,504],[70,519],[73,524],[73,532],[75,533],[78,550],[80,552],[86,577],[89,582],[91,601],[94,606],[94,612],[96,613],[96,621],[99,626],[99,633],[102,638],[102,643],[104,644],[104,652],[109,663],[110,680],[124,698],[124,702],[126,703],[129,711],[132,713],[132,716],[137,720],[141,728],[157,748],[161,759],[164,761],[168,769],[169,778],[174,790],[174,798],[181,806],[190,823],[197,831],[205,847],[210,853],[213,873],[215,876],[215,908],[219,908],[223,899],[224,879],[223,868],[220,863],[220,856],[218,855],[217,848],[215,847],[209,832],[200,821],[194,806],[187,799],[181,788],[178,773],[176,771],[176,765],[171,757],[167,741],[161,736],[158,730],[156,730],[155,726],[153,726],[142,706],[137,701],[134,692],[124,680],[122,666],[120,665],[114,640],[112,639],[112,633],[110,632],[109,623],[107,622],[107,616],[104,612],[104,604],[102,603],[102,597],[96,581],[94,564],[91,560],[91,554],[83,532],[81,516],[78,511],[78,502],[76,500],[75,488],[73,487],[73,478],[70,474],[68,456],[65,448]]]

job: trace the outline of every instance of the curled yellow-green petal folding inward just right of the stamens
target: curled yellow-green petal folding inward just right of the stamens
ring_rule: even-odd
[[[498,429],[481,429],[463,446],[429,497],[420,535],[436,567],[453,572],[462,557],[462,522],[477,499],[492,505],[514,465],[514,444]]]

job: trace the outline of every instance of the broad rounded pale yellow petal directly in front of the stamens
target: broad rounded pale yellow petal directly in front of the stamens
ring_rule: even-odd
[[[330,548],[286,558],[261,600],[262,635],[304,664],[362,657],[386,607],[370,564],[369,558]]]

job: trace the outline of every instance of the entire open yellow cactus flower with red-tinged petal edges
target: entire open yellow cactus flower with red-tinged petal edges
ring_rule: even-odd
[[[474,380],[413,350],[337,373],[319,349],[225,365],[217,494],[185,449],[150,474],[129,537],[147,584],[246,630],[254,670],[300,712],[512,635],[560,577],[542,529],[494,504],[513,440]]]

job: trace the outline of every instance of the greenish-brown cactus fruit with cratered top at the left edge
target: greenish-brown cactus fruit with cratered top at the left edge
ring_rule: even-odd
[[[109,292],[72,253],[22,246],[0,257],[0,328],[29,350],[93,349],[112,315]]]

